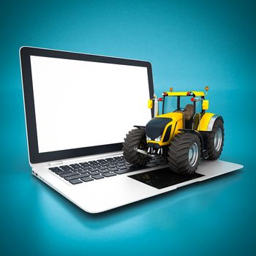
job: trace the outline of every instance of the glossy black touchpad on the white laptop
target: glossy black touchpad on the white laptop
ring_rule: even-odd
[[[135,180],[143,182],[151,187],[155,187],[156,189],[163,189],[165,187],[170,187],[202,176],[204,175],[200,173],[194,173],[192,175],[173,173],[169,167],[165,167],[158,170],[151,170],[146,173],[138,173],[128,177],[134,178]]]

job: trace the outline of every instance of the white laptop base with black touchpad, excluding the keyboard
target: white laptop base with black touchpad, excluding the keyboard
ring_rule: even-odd
[[[194,176],[180,176],[171,171],[168,173],[166,166],[159,166],[77,185],[65,183],[47,167],[35,167],[32,173],[83,211],[96,214],[221,176],[242,167],[221,160],[201,160]],[[168,196],[172,200],[171,195]]]

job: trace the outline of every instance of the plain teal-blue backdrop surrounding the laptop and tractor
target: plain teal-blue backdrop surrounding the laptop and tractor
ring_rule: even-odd
[[[253,255],[254,1],[1,1],[1,255]],[[244,169],[90,215],[30,174],[18,49],[145,59],[157,93],[210,86]],[[85,195],[86,196],[86,195]]]

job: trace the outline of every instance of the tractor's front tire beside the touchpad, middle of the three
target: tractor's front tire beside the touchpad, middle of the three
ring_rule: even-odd
[[[189,158],[190,150],[195,151],[195,154],[192,153],[192,158]],[[197,135],[178,133],[171,141],[168,151],[167,159],[170,169],[181,174],[195,173],[199,164],[200,152],[201,143]]]

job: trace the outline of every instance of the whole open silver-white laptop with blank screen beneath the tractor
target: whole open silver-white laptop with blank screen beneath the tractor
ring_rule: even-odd
[[[178,176],[152,159],[136,168],[122,158],[134,124],[151,118],[151,64],[59,50],[20,49],[32,173],[84,211],[97,213],[236,170],[201,162]]]

